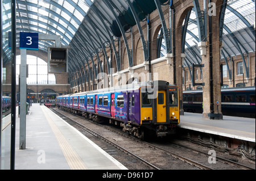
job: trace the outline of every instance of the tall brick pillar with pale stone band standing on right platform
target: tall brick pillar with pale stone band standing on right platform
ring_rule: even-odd
[[[205,43],[200,43],[202,54],[203,68],[203,117],[209,119],[222,119],[221,112],[221,77],[220,77],[220,48],[222,43],[219,41],[219,20],[218,14],[211,16],[212,18],[212,34],[207,24],[207,39]],[[211,39],[210,39],[211,37]],[[211,45],[211,46],[210,46]],[[205,51],[206,50],[206,51]],[[210,64],[210,58],[212,63]],[[210,79],[210,71],[212,71],[212,80]]]

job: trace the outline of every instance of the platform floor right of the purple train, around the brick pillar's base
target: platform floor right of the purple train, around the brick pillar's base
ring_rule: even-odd
[[[222,120],[210,120],[204,119],[201,113],[184,112],[179,127],[255,142],[255,119],[247,117],[223,116]]]

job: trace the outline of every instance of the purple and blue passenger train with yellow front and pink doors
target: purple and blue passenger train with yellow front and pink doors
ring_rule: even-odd
[[[56,106],[93,121],[109,121],[142,140],[165,137],[180,123],[179,87],[167,81],[131,83],[56,97]]]

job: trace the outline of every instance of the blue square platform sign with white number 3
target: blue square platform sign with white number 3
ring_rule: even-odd
[[[38,50],[38,33],[20,32],[19,48]]]

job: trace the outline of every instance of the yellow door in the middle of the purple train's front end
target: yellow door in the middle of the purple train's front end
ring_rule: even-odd
[[[166,122],[166,91],[159,90],[156,98],[157,122]]]

